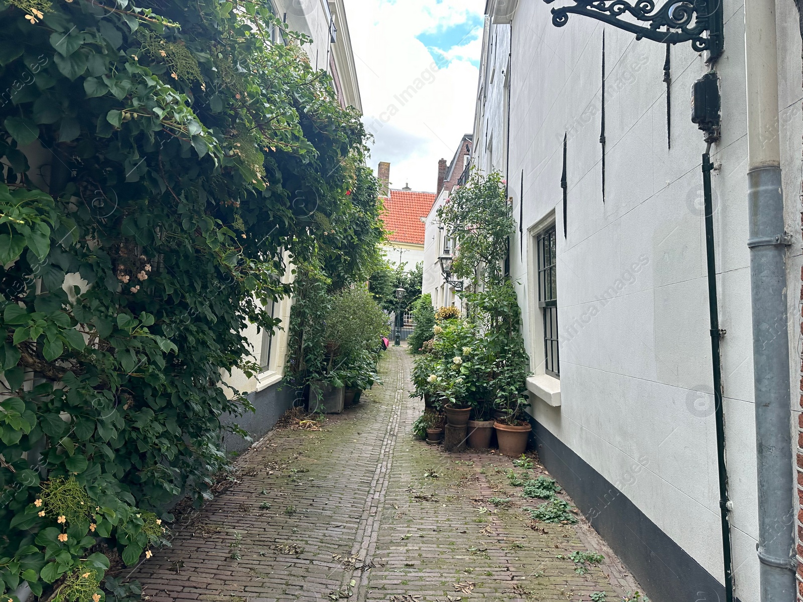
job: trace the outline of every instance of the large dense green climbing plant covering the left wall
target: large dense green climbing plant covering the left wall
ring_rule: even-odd
[[[376,254],[360,116],[269,6],[0,0],[4,598],[98,602],[101,550],[149,556],[225,466],[286,258]]]

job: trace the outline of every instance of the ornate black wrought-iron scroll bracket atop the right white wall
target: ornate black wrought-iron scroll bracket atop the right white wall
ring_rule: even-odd
[[[551,4],[554,0],[544,0]],[[596,18],[619,29],[630,31],[636,39],[678,44],[691,42],[695,51],[710,53],[708,61],[723,51],[722,0],[666,0],[658,9],[654,0],[573,0],[573,6],[552,9],[552,24],[565,26],[569,13]],[[628,19],[634,18],[636,22]],[[646,24],[649,24],[647,26]]]

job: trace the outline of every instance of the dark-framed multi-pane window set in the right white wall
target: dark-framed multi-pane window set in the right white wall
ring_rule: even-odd
[[[560,375],[557,344],[557,279],[555,272],[555,226],[536,237],[538,250],[538,307],[544,319],[544,372]]]

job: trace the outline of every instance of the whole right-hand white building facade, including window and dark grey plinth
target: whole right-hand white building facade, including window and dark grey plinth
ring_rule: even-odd
[[[655,602],[726,600],[728,566],[737,599],[781,600],[767,588],[774,577],[785,592],[793,587],[793,482],[803,482],[786,432],[794,425],[798,441],[803,400],[800,15],[792,2],[724,0],[724,51],[712,59],[690,43],[635,39],[579,14],[556,27],[558,4],[573,6],[488,0],[471,157],[476,169],[503,173],[512,202],[510,274],[531,356],[540,459]],[[769,56],[768,40],[777,43],[777,70],[756,70],[756,60]],[[707,144],[688,102],[703,76],[718,80],[721,94],[706,173],[714,307],[724,331],[713,333],[721,344],[722,466],[701,161]],[[756,126],[752,107],[773,85],[777,101]],[[772,148],[782,179],[769,188],[776,197],[783,190],[778,215],[787,236],[764,240],[748,211],[748,202],[758,211],[763,193],[748,190],[748,181],[759,173],[756,157]],[[777,299],[786,307],[762,317],[751,285],[754,253],[784,243],[778,278],[790,292]],[[754,270],[752,279],[770,276]],[[754,369],[764,352],[754,338],[792,358],[771,366],[772,380]],[[778,390],[783,420],[767,435],[756,416]],[[768,452],[788,464],[768,474]],[[768,505],[777,492],[783,511]]]

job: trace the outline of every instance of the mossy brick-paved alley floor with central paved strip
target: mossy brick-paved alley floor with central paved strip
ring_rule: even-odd
[[[237,482],[174,526],[173,547],[132,576],[151,602],[226,600],[618,601],[638,586],[598,535],[534,523],[541,500],[509,484],[509,458],[446,454],[410,434],[410,356],[323,431],[277,430],[238,460]],[[515,468],[517,474],[545,474]],[[490,498],[509,498],[495,506]],[[568,499],[568,498],[566,498]],[[499,499],[495,500],[499,502]],[[601,553],[584,572],[573,551]]]

